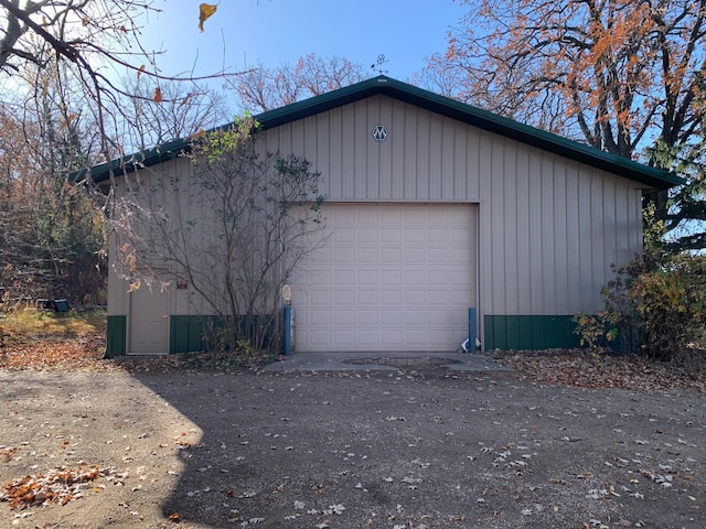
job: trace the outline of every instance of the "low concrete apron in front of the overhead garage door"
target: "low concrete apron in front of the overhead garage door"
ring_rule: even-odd
[[[435,367],[449,371],[504,371],[491,357],[464,353],[292,353],[265,371],[396,371]]]

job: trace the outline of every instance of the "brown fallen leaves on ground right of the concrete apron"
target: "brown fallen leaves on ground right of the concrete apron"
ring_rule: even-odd
[[[638,391],[706,392],[706,373],[692,374],[633,355],[595,355],[584,350],[509,352],[501,363],[525,379],[556,386]]]

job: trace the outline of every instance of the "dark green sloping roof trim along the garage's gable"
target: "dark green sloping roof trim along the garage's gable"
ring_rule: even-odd
[[[486,110],[466,105],[438,94],[418,88],[381,75],[355,85],[346,86],[338,90],[312,97],[303,101],[293,102],[286,107],[269,110],[255,116],[264,130],[303,119],[317,114],[331,110],[351,102],[365,99],[374,95],[384,95],[410,105],[425,108],[436,114],[463,121],[490,132],[511,138],[528,145],[559,154],[577,162],[591,165],[610,173],[624,176],[648,188],[664,190],[674,185],[682,185],[684,179],[674,173],[668,173],[642,163],[611,154],[577,141],[561,138],[545,130],[530,127],[528,125],[513,121],[491,114]],[[110,170],[115,174],[122,171],[133,171],[141,166],[154,165],[179,155],[189,149],[189,139],[179,139],[164,143],[159,148],[150,149],[143,153],[136,153],[111,162],[96,165],[90,169],[90,176],[95,182],[109,179]],[[79,180],[87,176],[87,171],[75,174]]]

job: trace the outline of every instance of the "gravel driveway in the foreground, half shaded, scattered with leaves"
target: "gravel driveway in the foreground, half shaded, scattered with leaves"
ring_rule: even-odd
[[[409,364],[0,384],[2,528],[706,527],[695,391]]]

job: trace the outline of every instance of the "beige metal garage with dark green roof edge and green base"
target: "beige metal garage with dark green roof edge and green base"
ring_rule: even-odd
[[[682,183],[386,76],[257,121],[258,152],[309,162],[320,175],[315,197],[325,197],[328,244],[284,278],[296,352],[456,350],[468,336],[469,306],[485,350],[577,347],[574,316],[595,314],[614,278],[611,263],[642,251],[643,196]],[[193,170],[179,155],[184,141],[94,168],[92,176],[183,181]],[[116,196],[127,188],[119,184]],[[213,305],[196,285],[171,281],[165,338],[148,314],[163,317],[160,306],[138,314],[130,304],[116,237],[107,354],[140,350],[154,336],[170,353],[202,350],[220,317]]]

